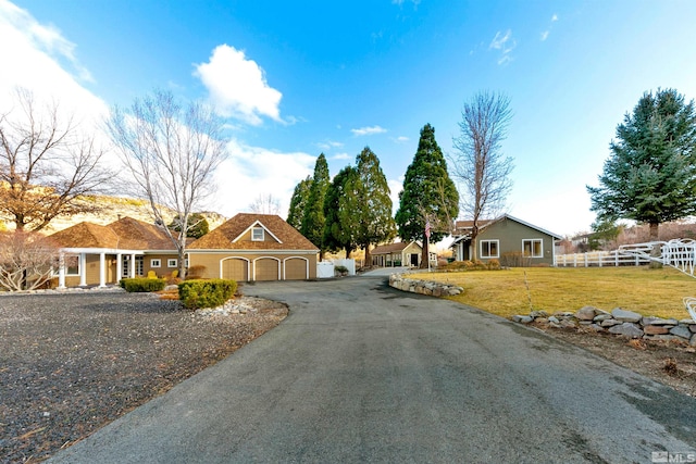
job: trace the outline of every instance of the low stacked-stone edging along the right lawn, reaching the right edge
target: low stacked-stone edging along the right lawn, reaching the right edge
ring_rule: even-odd
[[[611,313],[594,306],[583,306],[575,313],[558,312],[549,316],[544,311],[533,311],[527,316],[512,316],[512,321],[530,324],[534,321],[555,328],[586,327],[595,331],[620,335],[644,340],[676,340],[696,347],[696,322],[645,317],[633,311],[614,308]]]

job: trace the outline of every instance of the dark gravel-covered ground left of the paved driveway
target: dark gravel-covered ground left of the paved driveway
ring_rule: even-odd
[[[153,294],[0,297],[0,462],[39,462],[275,327],[287,306],[243,298],[203,316]]]

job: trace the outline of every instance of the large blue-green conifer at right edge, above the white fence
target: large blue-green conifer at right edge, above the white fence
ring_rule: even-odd
[[[618,141],[599,176],[587,186],[598,222],[634,220],[650,226],[696,213],[696,115],[694,101],[674,89],[646,92],[617,127]]]

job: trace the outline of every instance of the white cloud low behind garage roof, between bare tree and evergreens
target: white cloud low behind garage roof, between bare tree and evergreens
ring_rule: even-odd
[[[248,212],[253,199],[269,193],[279,200],[285,216],[295,186],[312,174],[316,162],[307,153],[282,153],[238,140],[227,149],[229,158],[215,172],[216,189],[207,205],[225,216]]]

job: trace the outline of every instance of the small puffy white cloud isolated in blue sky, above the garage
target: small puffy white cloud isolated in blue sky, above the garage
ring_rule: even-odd
[[[208,88],[210,102],[223,116],[253,125],[261,124],[260,116],[283,122],[278,109],[283,95],[269,86],[263,70],[244,51],[217,46],[208,63],[196,65],[194,75]]]

